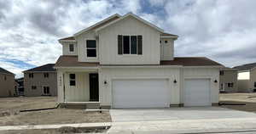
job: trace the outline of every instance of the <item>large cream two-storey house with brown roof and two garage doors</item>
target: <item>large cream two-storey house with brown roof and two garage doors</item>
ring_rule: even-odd
[[[84,108],[218,104],[223,65],[204,57],[174,57],[175,40],[135,14],[114,14],[60,39],[58,102]]]

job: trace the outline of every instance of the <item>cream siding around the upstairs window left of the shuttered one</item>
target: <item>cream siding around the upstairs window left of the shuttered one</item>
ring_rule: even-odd
[[[87,31],[76,36],[78,42],[79,62],[98,62],[99,61],[99,40],[96,39],[95,31]],[[96,58],[87,57],[86,40],[96,40]]]

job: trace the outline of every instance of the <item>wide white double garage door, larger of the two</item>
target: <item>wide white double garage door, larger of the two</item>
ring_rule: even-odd
[[[113,81],[113,108],[169,107],[167,79],[136,79]]]

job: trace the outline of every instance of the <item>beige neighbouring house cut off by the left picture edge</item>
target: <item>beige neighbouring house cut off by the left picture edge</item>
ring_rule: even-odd
[[[0,67],[0,97],[15,96],[15,74]]]

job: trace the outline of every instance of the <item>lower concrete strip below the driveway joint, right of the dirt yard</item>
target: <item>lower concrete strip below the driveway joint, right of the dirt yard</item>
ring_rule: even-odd
[[[256,132],[256,118],[114,122],[108,133]]]

